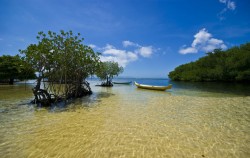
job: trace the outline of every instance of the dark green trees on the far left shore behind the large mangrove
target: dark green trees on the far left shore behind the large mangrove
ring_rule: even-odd
[[[35,71],[20,56],[0,56],[0,82],[13,84],[14,79],[34,79]]]

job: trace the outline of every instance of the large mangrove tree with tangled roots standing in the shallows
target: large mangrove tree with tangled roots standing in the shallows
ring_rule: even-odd
[[[97,53],[82,44],[80,33],[39,32],[37,39],[37,44],[20,50],[25,60],[39,72],[37,85],[33,89],[35,96],[41,91],[45,93],[40,89],[42,79],[49,81],[44,87],[47,92],[65,99],[90,94],[91,89],[85,79],[96,72],[100,61]]]

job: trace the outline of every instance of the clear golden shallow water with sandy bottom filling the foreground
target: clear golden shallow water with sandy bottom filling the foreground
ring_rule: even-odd
[[[90,83],[93,95],[47,109],[28,104],[31,86],[0,86],[1,157],[250,156],[249,96]]]

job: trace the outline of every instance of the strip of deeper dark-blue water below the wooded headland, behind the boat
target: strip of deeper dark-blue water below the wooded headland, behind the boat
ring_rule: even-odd
[[[171,92],[174,95],[195,95],[210,96],[208,93],[236,96],[250,96],[250,83],[236,83],[236,82],[184,82],[184,81],[171,81],[170,79],[146,79],[137,78],[136,81],[140,84],[167,86],[173,85]],[[208,93],[207,93],[208,92]]]

